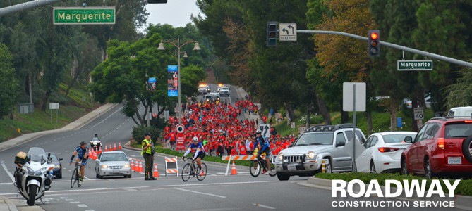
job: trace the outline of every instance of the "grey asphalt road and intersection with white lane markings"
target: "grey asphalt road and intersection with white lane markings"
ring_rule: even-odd
[[[230,87],[230,86],[229,86]],[[231,89],[231,103],[243,98]],[[212,90],[216,85],[212,84]],[[225,98],[223,98],[224,100]],[[226,98],[229,100],[230,98]],[[11,173],[13,158],[18,151],[28,151],[39,146],[45,151],[55,152],[63,161],[63,179],[54,179],[51,190],[43,197],[44,204],[37,205],[44,210],[378,210],[377,208],[337,208],[337,200],[392,200],[383,198],[332,198],[331,191],[304,186],[307,177],[291,177],[279,181],[277,177],[248,174],[248,167],[237,167],[237,175],[225,176],[226,165],[207,162],[208,172],[204,181],[190,178],[183,182],[181,177],[164,177],[164,157],[156,155],[160,173],[156,181],[145,181],[142,173],[133,172],[132,178],[111,177],[95,179],[95,163],[89,162],[83,186],[70,187],[71,169],[67,160],[81,140],[88,141],[93,134],[102,137],[102,143],[122,144],[131,137],[134,122],[120,113],[121,106],[115,106],[78,130],[41,136],[0,153],[0,196],[18,198]],[[241,117],[243,118],[243,117]],[[131,158],[142,158],[139,151],[123,151]],[[183,166],[180,160],[179,170]],[[231,172],[231,171],[230,171]],[[394,200],[398,201],[398,200]],[[382,210],[425,210],[417,208],[385,208]],[[427,208],[428,210],[454,210]]]

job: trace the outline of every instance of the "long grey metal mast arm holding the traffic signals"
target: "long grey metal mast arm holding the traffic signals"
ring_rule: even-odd
[[[361,36],[358,36],[356,34],[349,34],[349,33],[346,33],[346,32],[320,31],[320,30],[296,30],[296,32],[301,33],[301,34],[337,34],[337,35],[341,35],[341,36],[352,37],[354,39],[361,39],[363,41],[368,41],[369,40],[367,37],[361,37]],[[458,59],[455,59],[455,58],[449,58],[447,56],[441,56],[441,55],[438,55],[438,54],[435,54],[435,53],[429,53],[427,51],[420,51],[420,50],[412,49],[412,48],[409,48],[409,47],[406,47],[406,46],[391,44],[387,41],[380,41],[380,45],[388,46],[388,47],[391,47],[391,48],[394,48],[394,49],[399,49],[401,51],[416,53],[416,54],[419,54],[421,56],[426,56],[428,58],[435,58],[437,60],[443,60],[443,61],[446,61],[448,63],[461,65],[461,66],[464,66],[464,67],[467,67],[467,68],[472,68],[472,63],[468,63],[464,60],[458,60]]]

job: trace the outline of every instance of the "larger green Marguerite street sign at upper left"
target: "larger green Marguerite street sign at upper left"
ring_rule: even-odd
[[[115,8],[103,7],[54,7],[52,24],[91,25],[115,24]]]

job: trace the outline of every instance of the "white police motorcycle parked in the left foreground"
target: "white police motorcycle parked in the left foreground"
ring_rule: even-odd
[[[16,154],[15,183],[18,193],[26,199],[28,205],[35,205],[35,200],[42,201],[44,192],[51,188],[52,169],[51,155],[46,155],[44,149],[33,147],[28,154],[19,152]]]

